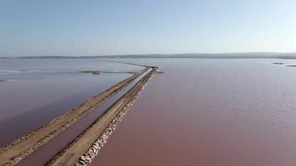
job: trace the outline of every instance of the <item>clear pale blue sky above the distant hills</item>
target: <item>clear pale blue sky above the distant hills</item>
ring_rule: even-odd
[[[0,0],[0,56],[296,51],[296,0]]]

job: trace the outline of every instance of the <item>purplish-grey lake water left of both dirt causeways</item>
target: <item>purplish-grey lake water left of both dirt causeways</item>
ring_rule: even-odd
[[[30,133],[132,75],[64,71],[138,71],[142,68],[97,59],[0,60],[0,73],[5,73],[0,74],[0,79],[15,80],[0,82],[0,147]]]

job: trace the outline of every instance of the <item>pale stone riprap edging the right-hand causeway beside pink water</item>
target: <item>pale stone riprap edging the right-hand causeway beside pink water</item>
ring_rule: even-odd
[[[104,143],[106,143],[106,139],[108,138],[108,136],[114,131],[117,123],[121,121],[124,114],[135,102],[139,93],[143,90],[144,86],[148,83],[149,79],[147,79],[146,82],[141,86],[141,88],[132,97],[130,97],[129,101],[123,106],[119,113],[110,121],[110,123],[103,130],[101,135],[94,141],[94,143],[91,145],[88,151],[85,152],[82,156],[80,156],[79,162],[75,163],[75,166],[87,165],[98,154],[100,148],[102,148],[104,146]]]

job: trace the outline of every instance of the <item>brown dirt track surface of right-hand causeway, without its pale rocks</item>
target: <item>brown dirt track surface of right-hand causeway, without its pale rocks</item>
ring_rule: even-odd
[[[89,128],[79,135],[72,143],[52,158],[47,165],[74,165],[81,155],[85,153],[91,144],[99,137],[101,132],[118,112],[128,103],[131,97],[137,94],[138,90],[149,81],[152,74],[158,69],[153,69],[141,78],[128,92],[119,98],[109,109],[102,114]]]

